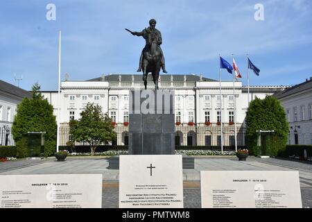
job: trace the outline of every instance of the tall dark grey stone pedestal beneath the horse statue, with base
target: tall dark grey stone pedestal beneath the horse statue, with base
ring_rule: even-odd
[[[174,155],[174,91],[130,90],[129,96],[129,155]],[[183,166],[193,169],[193,158],[183,156]],[[109,169],[119,169],[118,156]]]

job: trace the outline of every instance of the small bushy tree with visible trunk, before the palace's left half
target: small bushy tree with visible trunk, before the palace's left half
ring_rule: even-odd
[[[116,138],[111,121],[107,114],[103,114],[100,105],[87,103],[85,110],[80,113],[80,119],[70,123],[71,139],[87,142],[91,148],[91,155],[94,155],[96,147],[108,144]]]

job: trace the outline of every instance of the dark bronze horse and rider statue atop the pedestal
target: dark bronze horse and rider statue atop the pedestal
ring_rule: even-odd
[[[158,78],[159,71],[162,68],[164,73],[167,73],[165,68],[164,53],[162,53],[162,33],[160,33],[156,28],[156,20],[150,19],[150,26],[144,28],[141,32],[129,31],[132,35],[142,36],[146,40],[146,45],[141,52],[141,57],[139,61],[139,69],[137,71],[143,71],[143,81],[145,89],[147,87],[147,76],[152,73],[153,81],[155,83],[155,89],[158,89]]]

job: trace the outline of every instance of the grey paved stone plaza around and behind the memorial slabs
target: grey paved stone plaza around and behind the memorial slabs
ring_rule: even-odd
[[[118,207],[119,170],[107,169],[107,157],[67,157],[65,162],[55,158],[17,160],[0,163],[0,175],[24,174],[103,174],[103,208]],[[183,170],[184,207],[200,207],[200,171],[299,171],[303,207],[312,207],[312,164],[248,157],[195,157],[195,169]]]

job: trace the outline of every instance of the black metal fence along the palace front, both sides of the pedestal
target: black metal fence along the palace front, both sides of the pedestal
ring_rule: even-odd
[[[223,128],[223,151],[235,151],[234,126]],[[236,128],[237,148],[245,146],[245,128]],[[116,127],[116,140],[111,144],[102,144],[96,148],[96,152],[128,150],[128,127]],[[60,128],[61,149],[73,150],[67,146],[69,141],[69,128]],[[176,150],[207,150],[221,151],[220,127],[216,126],[176,126],[175,127],[175,149]],[[89,153],[90,147],[87,142],[75,142],[74,151],[76,153]]]

